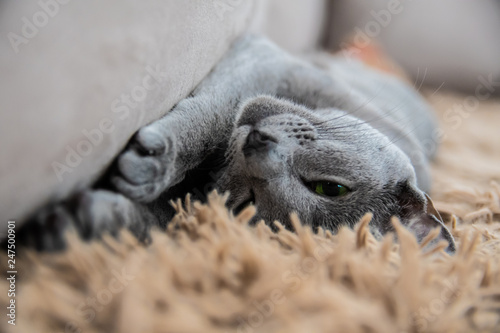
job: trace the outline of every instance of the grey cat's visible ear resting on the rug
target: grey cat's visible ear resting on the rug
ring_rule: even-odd
[[[400,187],[398,201],[401,222],[413,232],[419,242],[431,230],[440,227],[441,232],[433,243],[445,240],[448,242],[446,252],[455,253],[455,240],[444,225],[441,215],[434,207],[431,198],[426,193],[411,184],[405,183]]]

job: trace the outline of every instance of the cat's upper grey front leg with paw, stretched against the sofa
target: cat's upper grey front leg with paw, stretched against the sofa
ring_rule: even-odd
[[[151,202],[228,141],[239,106],[276,93],[289,56],[265,39],[245,37],[212,73],[160,120],[140,129],[117,159],[116,188]]]

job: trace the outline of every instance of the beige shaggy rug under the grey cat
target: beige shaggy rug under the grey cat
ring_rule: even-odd
[[[428,93],[445,136],[432,197],[459,243],[421,250],[394,221],[376,241],[246,225],[224,199],[178,207],[152,245],[71,240],[62,254],[18,258],[16,326],[2,332],[495,332],[500,331],[500,102]],[[469,103],[469,104],[464,104]],[[0,258],[6,271],[7,258]],[[6,279],[0,281],[6,313]]]

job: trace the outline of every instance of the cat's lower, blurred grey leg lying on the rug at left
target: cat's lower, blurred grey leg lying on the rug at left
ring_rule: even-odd
[[[158,220],[145,206],[118,193],[87,190],[42,209],[23,225],[17,237],[21,246],[57,251],[66,247],[65,235],[70,230],[91,240],[105,233],[117,236],[127,228],[140,241],[148,242],[149,230],[156,225]]]

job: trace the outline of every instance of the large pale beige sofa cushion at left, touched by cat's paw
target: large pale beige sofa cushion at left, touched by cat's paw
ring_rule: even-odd
[[[139,127],[200,82],[262,4],[2,2],[2,227],[95,180]]]

